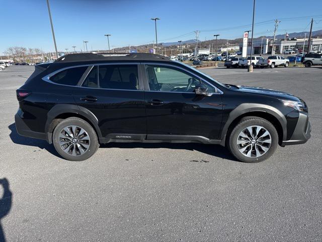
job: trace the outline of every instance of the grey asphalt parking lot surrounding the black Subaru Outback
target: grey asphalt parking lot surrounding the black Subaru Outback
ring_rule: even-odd
[[[63,160],[16,132],[15,89],[33,69],[0,72],[0,179],[12,193],[0,200],[0,233],[8,241],[322,240],[322,68],[201,69],[306,101],[311,139],[255,164],[202,144],[111,143],[89,160]]]

